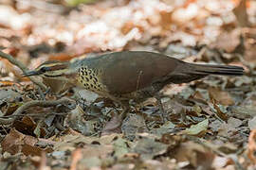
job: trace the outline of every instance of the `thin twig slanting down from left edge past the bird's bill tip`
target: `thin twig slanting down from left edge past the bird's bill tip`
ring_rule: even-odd
[[[27,67],[22,62],[18,61],[17,59],[14,59],[11,55],[6,54],[1,50],[0,50],[0,57],[4,59],[8,59],[10,63],[19,67],[23,71],[23,73],[26,73],[26,71],[28,70]],[[46,85],[38,81],[35,77],[29,76],[29,78],[33,83],[38,85],[42,90],[44,91],[47,90]]]

